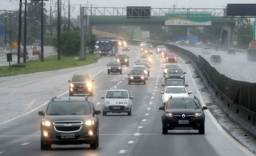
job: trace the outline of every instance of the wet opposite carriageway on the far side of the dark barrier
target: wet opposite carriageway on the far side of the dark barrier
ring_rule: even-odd
[[[221,64],[210,62],[210,65],[216,68],[218,72],[234,80],[256,82],[256,73],[253,72],[256,62],[248,61],[246,52],[236,52],[235,55],[228,55],[227,51],[218,50],[216,52],[215,49],[212,49],[212,54],[202,54],[202,47],[178,47],[189,50],[195,55],[201,55],[208,62],[210,62],[211,55],[220,55],[222,57]]]

